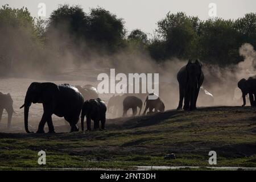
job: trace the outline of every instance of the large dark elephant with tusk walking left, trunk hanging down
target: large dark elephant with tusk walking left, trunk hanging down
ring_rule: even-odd
[[[27,89],[24,104],[24,125],[27,133],[28,130],[28,111],[31,104],[43,104],[43,116],[36,133],[44,133],[44,125],[47,122],[49,133],[55,133],[52,124],[52,114],[58,117],[64,117],[71,126],[71,132],[79,131],[77,122],[84,104],[81,93],[75,86],[69,84],[56,85],[52,82],[32,82]]]

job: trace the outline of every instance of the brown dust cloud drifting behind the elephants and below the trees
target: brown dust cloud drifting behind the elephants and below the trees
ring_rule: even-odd
[[[166,109],[175,109],[179,102],[179,85],[176,74],[187,60],[171,59],[156,63],[148,52],[125,48],[112,55],[104,49],[92,49],[85,42],[73,43],[64,31],[52,31],[42,47],[27,30],[1,27],[0,39],[0,92],[11,93],[17,111],[24,101],[32,81],[52,81],[72,85],[92,84],[97,87],[97,75],[110,73],[159,73],[159,96]],[[256,52],[250,44],[240,48],[241,62],[226,68],[203,63],[205,81],[200,90],[197,106],[242,105],[237,82],[255,74]],[[210,93],[213,95],[209,96]],[[108,102],[112,94],[100,94]],[[34,112],[34,113],[33,113]],[[16,118],[23,117],[17,111]],[[31,115],[40,117],[42,106],[31,108]],[[6,118],[6,114],[3,115]]]

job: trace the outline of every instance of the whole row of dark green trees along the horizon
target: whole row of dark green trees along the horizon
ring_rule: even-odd
[[[80,61],[92,50],[112,55],[129,48],[158,62],[199,58],[225,66],[242,60],[238,50],[243,43],[256,47],[255,13],[236,20],[205,21],[168,13],[157,24],[150,35],[139,29],[127,32],[122,18],[100,7],[85,13],[81,6],[60,5],[48,20],[42,20],[33,18],[26,7],[5,5],[0,9],[0,72],[51,63],[71,49],[79,52]],[[26,65],[24,59],[29,59]]]

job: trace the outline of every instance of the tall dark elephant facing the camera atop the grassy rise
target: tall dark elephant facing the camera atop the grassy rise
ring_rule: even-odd
[[[180,93],[180,101],[177,110],[182,108],[183,98],[183,109],[195,110],[200,87],[204,81],[202,64],[198,60],[192,62],[189,59],[188,64],[182,67],[177,73],[177,81],[179,82]]]

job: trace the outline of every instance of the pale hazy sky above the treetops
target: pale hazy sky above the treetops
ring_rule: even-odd
[[[85,12],[93,7],[104,7],[110,12],[117,14],[126,22],[127,30],[134,28],[148,33],[156,28],[156,22],[164,18],[171,11],[185,12],[187,15],[199,16],[200,19],[208,19],[209,3],[216,3],[217,16],[224,19],[236,19],[245,13],[256,13],[255,0],[1,0],[0,5],[9,4],[11,7],[26,6],[32,16],[38,17],[39,3],[46,4],[46,17],[58,5],[81,5]]]

